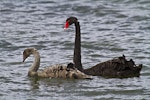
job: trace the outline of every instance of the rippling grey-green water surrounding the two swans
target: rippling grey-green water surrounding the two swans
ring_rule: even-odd
[[[41,54],[40,69],[73,59],[74,26],[81,25],[82,63],[89,68],[125,54],[143,64],[140,77],[93,80],[35,79],[22,63],[25,48]],[[0,0],[0,100],[148,100],[150,98],[149,0]]]

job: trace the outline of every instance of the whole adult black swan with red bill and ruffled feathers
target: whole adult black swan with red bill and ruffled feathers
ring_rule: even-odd
[[[81,36],[80,36],[80,24],[76,17],[69,17],[66,20],[64,29],[67,29],[70,25],[75,25],[75,47],[74,47],[74,66],[87,75],[114,77],[114,78],[127,78],[138,77],[142,69],[142,64],[135,65],[134,61],[129,61],[125,56],[114,58],[112,60],[99,63],[91,68],[83,69],[81,63]]]

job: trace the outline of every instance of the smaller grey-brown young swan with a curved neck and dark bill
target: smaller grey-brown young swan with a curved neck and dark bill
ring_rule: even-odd
[[[48,68],[45,68],[41,71],[38,71],[40,66],[40,55],[37,49],[35,48],[27,48],[23,52],[23,62],[30,55],[34,56],[33,65],[30,67],[28,71],[28,76],[38,76],[44,78],[71,78],[71,79],[91,79],[91,76],[84,74],[79,71],[77,68],[74,68],[72,63],[66,65],[53,65]]]

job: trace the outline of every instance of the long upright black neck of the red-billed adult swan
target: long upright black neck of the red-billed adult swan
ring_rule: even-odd
[[[75,35],[75,47],[74,47],[74,64],[75,67],[80,71],[83,70],[81,63],[81,34],[80,34],[80,24],[78,21],[75,22],[76,35]]]

